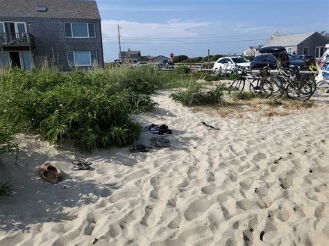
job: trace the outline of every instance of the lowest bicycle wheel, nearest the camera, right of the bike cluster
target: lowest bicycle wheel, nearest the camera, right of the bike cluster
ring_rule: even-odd
[[[311,98],[313,94],[312,85],[309,82],[289,82],[286,88],[287,97],[303,102]]]

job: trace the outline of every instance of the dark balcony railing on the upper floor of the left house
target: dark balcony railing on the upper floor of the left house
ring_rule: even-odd
[[[0,33],[0,46],[34,46],[30,33]]]

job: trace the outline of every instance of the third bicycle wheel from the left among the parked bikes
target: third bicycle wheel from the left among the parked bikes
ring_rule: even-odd
[[[278,100],[284,92],[283,83],[280,78],[276,76],[267,76],[262,80],[261,91],[262,94],[264,94],[264,98]]]

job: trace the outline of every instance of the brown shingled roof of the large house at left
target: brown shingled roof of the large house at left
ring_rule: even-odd
[[[0,6],[0,17],[101,19],[96,0],[0,0]]]

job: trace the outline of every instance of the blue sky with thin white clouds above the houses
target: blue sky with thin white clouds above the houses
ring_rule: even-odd
[[[97,0],[104,60],[142,55],[242,54],[275,34],[329,31],[329,0]]]

